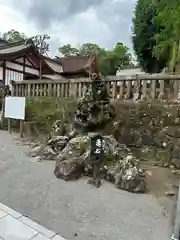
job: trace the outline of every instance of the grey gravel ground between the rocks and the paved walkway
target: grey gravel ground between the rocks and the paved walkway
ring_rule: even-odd
[[[54,162],[32,162],[27,149],[0,131],[0,202],[68,240],[168,239],[168,213],[154,198],[58,180]]]

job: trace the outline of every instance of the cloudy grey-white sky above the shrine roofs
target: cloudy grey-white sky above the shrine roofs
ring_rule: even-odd
[[[131,47],[131,19],[136,0],[0,0],[0,32],[51,36],[51,54],[70,43],[97,43],[111,48],[117,41]]]

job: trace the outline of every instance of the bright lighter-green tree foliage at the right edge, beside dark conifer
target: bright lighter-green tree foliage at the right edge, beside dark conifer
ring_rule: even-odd
[[[157,8],[155,22],[161,31],[155,35],[155,55],[160,58],[166,55],[168,70],[171,73],[180,71],[180,1],[154,0]]]

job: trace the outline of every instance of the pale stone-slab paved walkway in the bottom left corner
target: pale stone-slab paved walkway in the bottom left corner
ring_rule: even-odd
[[[0,203],[0,239],[65,240],[2,203]]]

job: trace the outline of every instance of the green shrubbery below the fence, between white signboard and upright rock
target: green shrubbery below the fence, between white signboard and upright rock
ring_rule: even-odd
[[[26,120],[34,122],[40,132],[49,133],[56,120],[71,123],[75,109],[76,101],[72,99],[27,99]]]

